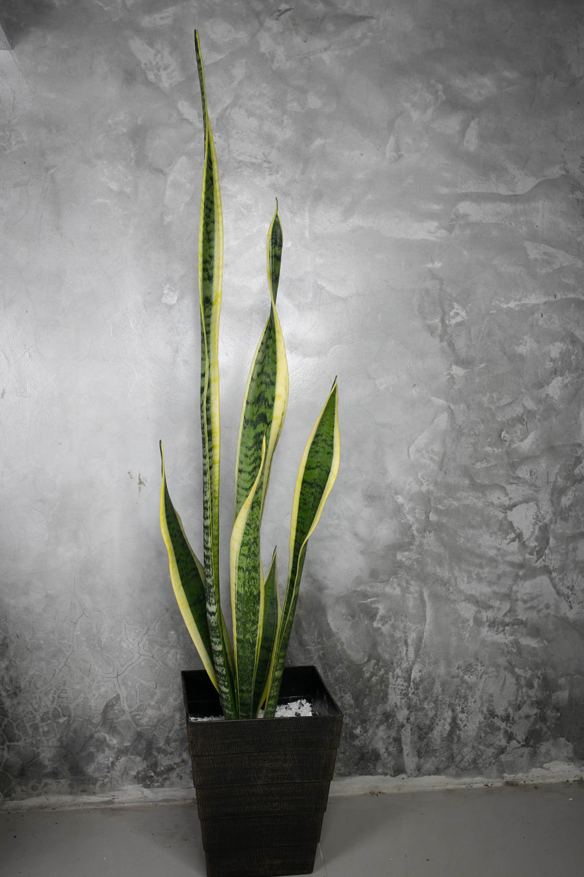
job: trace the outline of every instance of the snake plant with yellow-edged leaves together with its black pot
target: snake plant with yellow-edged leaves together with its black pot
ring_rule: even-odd
[[[182,673],[189,752],[209,877],[310,873],[342,716],[314,667],[284,664],[306,546],[338,472],[338,389],[335,380],[304,448],[282,603],[277,553],[266,574],[260,559],[261,519],[288,403],[286,351],[275,307],[282,252],[276,202],[267,233],[269,315],[247,379],[239,426],[230,541],[231,639],[221,609],[218,564],[223,220],[197,32],[195,48],[204,135],[198,253],[203,563],[171,502],[160,442],[160,527],[174,595],[204,667]],[[311,717],[274,717],[279,700],[299,696],[311,702]],[[217,715],[224,721],[196,721]]]

